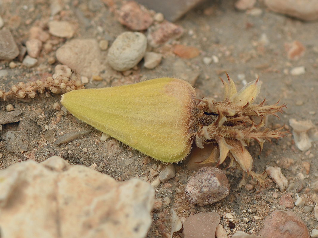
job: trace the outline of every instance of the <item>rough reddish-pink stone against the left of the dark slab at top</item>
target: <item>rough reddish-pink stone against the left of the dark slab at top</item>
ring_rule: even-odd
[[[146,8],[141,8],[135,1],[127,1],[118,11],[118,20],[131,30],[147,30],[154,19]]]

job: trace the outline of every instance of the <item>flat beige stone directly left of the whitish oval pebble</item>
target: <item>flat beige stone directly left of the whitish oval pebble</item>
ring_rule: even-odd
[[[74,57],[76,55],[76,57]],[[101,53],[95,39],[73,39],[56,51],[59,62],[75,70],[80,76],[91,78],[105,69],[101,63]]]

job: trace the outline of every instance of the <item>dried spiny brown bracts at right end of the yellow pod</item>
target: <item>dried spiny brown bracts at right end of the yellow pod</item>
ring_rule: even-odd
[[[260,151],[265,141],[279,139],[286,135],[286,131],[270,130],[265,127],[263,117],[282,113],[286,104],[265,105],[265,99],[260,104],[254,105],[259,94],[259,79],[246,84],[239,92],[236,90],[233,80],[226,74],[228,83],[222,82],[225,87],[225,97],[222,102],[215,102],[213,98],[203,98],[198,104],[200,113],[198,115],[200,128],[196,135],[196,144],[203,148],[205,143],[215,144],[211,155],[201,163],[217,162],[222,164],[227,156],[230,157],[232,166],[243,170],[244,173],[255,177],[259,182],[261,174],[252,171],[253,159],[248,150],[252,140],[259,143]],[[255,119],[261,117],[257,124]]]

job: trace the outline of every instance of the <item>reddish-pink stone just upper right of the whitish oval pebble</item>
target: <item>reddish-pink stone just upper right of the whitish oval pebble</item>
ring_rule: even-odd
[[[162,22],[148,30],[148,43],[158,47],[171,40],[178,39],[183,34],[183,28],[170,22]]]

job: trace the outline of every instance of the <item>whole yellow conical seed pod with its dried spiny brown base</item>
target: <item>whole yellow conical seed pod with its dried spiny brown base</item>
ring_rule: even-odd
[[[282,112],[285,104],[254,105],[260,82],[255,80],[239,92],[227,75],[225,98],[196,101],[193,87],[181,79],[157,78],[141,83],[102,89],[75,90],[62,95],[61,103],[74,116],[129,146],[163,162],[186,157],[193,141],[200,148],[213,143],[205,161],[231,165],[256,177],[246,147],[252,140],[263,143],[285,136],[281,128],[270,130],[254,117]]]

